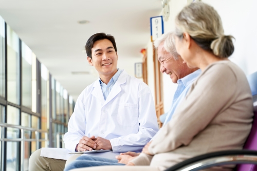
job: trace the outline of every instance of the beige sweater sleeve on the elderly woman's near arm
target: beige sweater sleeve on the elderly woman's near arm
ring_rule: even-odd
[[[212,65],[203,71],[181,101],[172,120],[152,141],[150,153],[166,153],[188,145],[219,112],[229,107],[234,98],[236,81],[232,68],[225,64]]]

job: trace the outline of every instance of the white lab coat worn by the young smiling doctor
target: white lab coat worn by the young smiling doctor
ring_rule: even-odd
[[[113,153],[140,151],[158,131],[149,87],[122,71],[104,101],[99,79],[80,94],[64,135],[74,152],[83,136],[110,140]]]

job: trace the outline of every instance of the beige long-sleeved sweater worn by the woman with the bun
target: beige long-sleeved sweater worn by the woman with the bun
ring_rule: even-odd
[[[149,147],[154,156],[141,154],[132,162],[163,170],[212,151],[242,149],[252,117],[244,72],[230,61],[213,63],[195,80],[171,121],[158,131]]]

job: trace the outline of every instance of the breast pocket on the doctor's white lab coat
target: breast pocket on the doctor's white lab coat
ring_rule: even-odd
[[[119,103],[117,121],[122,126],[134,126],[138,121],[138,104]]]

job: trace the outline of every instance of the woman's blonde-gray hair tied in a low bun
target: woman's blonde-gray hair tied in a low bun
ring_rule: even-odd
[[[201,2],[191,3],[176,16],[176,32],[179,37],[187,32],[201,48],[213,52],[219,58],[228,58],[234,51],[231,35],[224,35],[221,17],[217,11]]]

